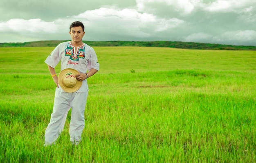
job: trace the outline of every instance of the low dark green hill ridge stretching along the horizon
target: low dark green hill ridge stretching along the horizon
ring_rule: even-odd
[[[59,43],[67,40],[34,41],[18,43],[0,43],[0,47],[56,47]],[[92,47],[173,47],[179,49],[207,49],[207,50],[256,50],[256,46],[236,46],[222,44],[208,44],[197,42],[177,41],[83,41]]]

